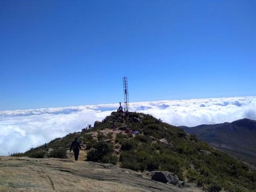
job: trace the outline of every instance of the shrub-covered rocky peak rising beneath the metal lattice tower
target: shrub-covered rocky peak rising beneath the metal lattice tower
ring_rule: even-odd
[[[103,134],[112,122],[117,129],[129,127],[140,134]],[[97,132],[97,136],[95,136]],[[210,147],[195,135],[169,125],[151,115],[113,112],[92,130],[69,134],[13,156],[66,158],[69,145],[77,137],[87,150],[87,160],[118,164],[122,168],[146,172],[165,170],[180,180],[195,182],[206,191],[256,191],[256,173],[241,161]],[[96,137],[96,138],[95,138]],[[49,148],[51,152],[49,153]]]

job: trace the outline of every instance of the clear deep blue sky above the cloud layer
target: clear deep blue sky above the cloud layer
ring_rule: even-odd
[[[0,110],[255,96],[255,1],[0,1]]]

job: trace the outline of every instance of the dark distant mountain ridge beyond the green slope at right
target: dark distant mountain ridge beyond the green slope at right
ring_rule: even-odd
[[[231,123],[180,127],[211,146],[256,165],[256,121],[240,119]]]

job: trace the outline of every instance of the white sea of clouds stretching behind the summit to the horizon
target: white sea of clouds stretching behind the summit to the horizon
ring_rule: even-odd
[[[25,152],[31,147],[81,131],[116,111],[119,103],[0,111],[0,155]],[[173,125],[196,126],[256,120],[256,97],[164,100],[130,103],[130,110],[152,114]]]

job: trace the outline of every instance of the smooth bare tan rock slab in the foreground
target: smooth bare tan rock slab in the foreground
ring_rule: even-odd
[[[0,191],[201,191],[112,164],[0,156]]]

